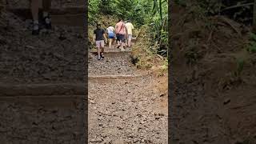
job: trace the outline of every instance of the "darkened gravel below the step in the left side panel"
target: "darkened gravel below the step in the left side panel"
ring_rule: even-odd
[[[81,104],[70,109],[47,108],[31,102],[1,102],[0,143],[81,143]]]

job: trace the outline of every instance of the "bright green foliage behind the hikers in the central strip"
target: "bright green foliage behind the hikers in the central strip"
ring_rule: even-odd
[[[167,0],[90,0],[89,22],[101,21],[98,15],[130,18],[135,29],[150,26],[152,45],[157,44],[157,53],[167,56],[168,47],[168,1]]]

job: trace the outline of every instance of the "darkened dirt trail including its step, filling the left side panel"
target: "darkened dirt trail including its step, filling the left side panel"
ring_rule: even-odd
[[[54,23],[34,36],[30,19],[10,12],[2,19],[1,143],[85,143],[83,27]]]

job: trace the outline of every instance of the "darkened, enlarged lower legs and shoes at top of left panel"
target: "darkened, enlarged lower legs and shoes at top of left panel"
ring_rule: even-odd
[[[43,8],[42,25],[48,30],[51,29],[50,14],[49,14],[50,6],[51,6],[51,0],[42,0],[42,8]],[[39,11],[39,0],[31,0],[31,13],[33,17],[33,30],[32,30],[33,35],[38,35],[40,30],[39,21],[38,21],[38,11]]]

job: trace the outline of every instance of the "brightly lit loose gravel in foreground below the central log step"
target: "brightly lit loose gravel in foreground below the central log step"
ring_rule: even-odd
[[[89,83],[90,143],[167,143],[167,114],[151,77]]]

